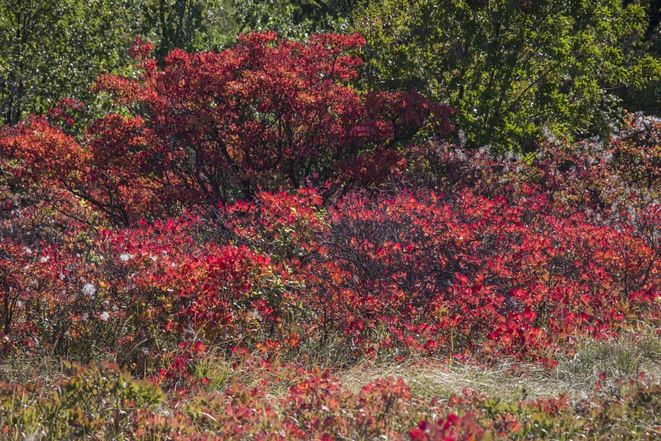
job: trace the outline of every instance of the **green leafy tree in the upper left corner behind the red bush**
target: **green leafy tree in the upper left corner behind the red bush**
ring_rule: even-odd
[[[0,0],[0,118],[15,124],[129,65],[129,0]]]

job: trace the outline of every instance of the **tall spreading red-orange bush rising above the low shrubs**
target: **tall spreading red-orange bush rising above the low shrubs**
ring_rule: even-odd
[[[451,131],[451,111],[415,93],[350,87],[361,61],[348,52],[362,43],[357,34],[297,43],[266,32],[220,54],[176,50],[159,69],[138,39],[140,78],[104,75],[94,85],[116,113],[79,139],[31,118],[8,129],[3,150],[32,179],[123,226],[258,189],[378,183],[401,167],[398,144],[422,128]]]

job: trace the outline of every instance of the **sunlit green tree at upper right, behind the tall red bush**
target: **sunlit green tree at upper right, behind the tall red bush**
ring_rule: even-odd
[[[549,136],[605,134],[618,92],[661,75],[636,3],[384,0],[361,15],[366,84],[448,100],[468,147],[528,150]]]

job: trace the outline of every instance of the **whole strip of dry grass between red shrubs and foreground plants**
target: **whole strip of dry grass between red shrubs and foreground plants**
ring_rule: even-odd
[[[558,356],[557,360],[558,365],[553,368],[507,359],[498,365],[483,366],[412,357],[401,362],[366,359],[347,365],[342,359],[310,356],[305,363],[283,361],[269,367],[251,363],[235,369],[234,360],[222,358],[211,349],[207,357],[196,363],[196,376],[209,378],[213,390],[222,391],[238,382],[249,387],[266,385],[272,396],[280,396],[300,381],[297,367],[316,367],[320,371],[330,369],[350,391],[392,376],[403,378],[419,398],[449,398],[470,389],[508,401],[558,394],[579,399],[594,391],[594,383],[602,372],[611,380],[631,378],[638,372],[661,378],[661,336],[648,330],[602,341],[586,338],[578,343],[574,354]],[[49,383],[62,372],[60,361],[51,356],[13,358],[0,365],[0,381]]]

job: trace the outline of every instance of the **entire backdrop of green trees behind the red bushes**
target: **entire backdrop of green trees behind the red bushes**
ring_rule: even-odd
[[[90,103],[103,72],[136,75],[134,36],[163,63],[241,33],[306,39],[361,32],[354,87],[417,89],[457,112],[457,136],[530,151],[547,138],[607,136],[622,109],[660,111],[658,1],[4,0],[0,117],[15,124],[61,98]],[[88,107],[103,113],[103,104]]]

